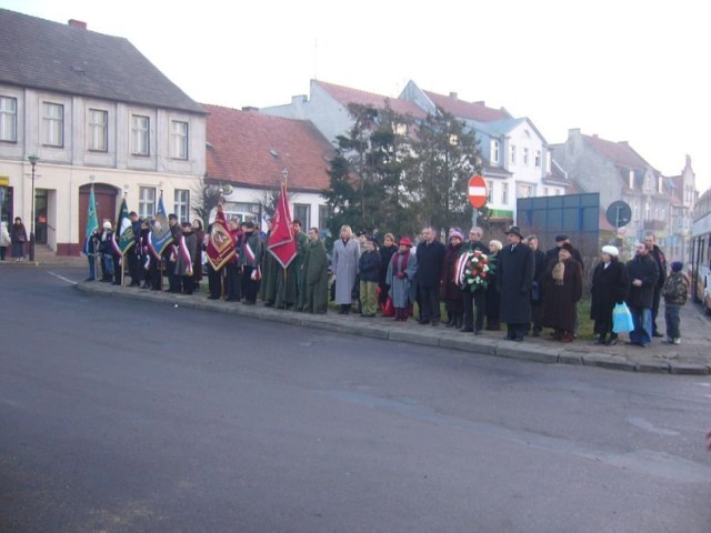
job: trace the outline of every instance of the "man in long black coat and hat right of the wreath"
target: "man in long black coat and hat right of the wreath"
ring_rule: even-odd
[[[507,323],[507,339],[521,342],[531,322],[533,250],[523,244],[518,225],[507,231],[509,244],[499,252],[497,288],[501,294],[501,321]]]

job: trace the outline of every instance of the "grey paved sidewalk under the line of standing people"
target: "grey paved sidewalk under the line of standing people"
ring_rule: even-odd
[[[631,372],[658,372],[669,374],[708,375],[711,372],[711,318],[702,314],[700,308],[689,302],[682,308],[680,345],[654,339],[648,348],[625,345],[617,346],[594,344],[590,340],[577,340],[569,344],[550,341],[545,338],[527,338],[524,342],[511,342],[503,339],[504,332],[484,331],[474,336],[439,325],[419,325],[414,320],[394,322],[378,316],[363,319],[359,314],[340,315],[308,314],[293,311],[243,305],[237,302],[208,300],[207,294],[170,294],[138,288],[121,288],[110,283],[78,283],[80,291],[103,295],[127,298],[138,301],[159,302],[169,305],[198,309],[217,313],[251,316],[292,325],[317,328],[339,333],[350,333],[389,341],[409,342],[430,346],[441,346],[464,352],[494,355],[499,358],[522,359],[544,363],[579,364],[601,366]],[[658,324],[664,331],[663,304]],[[627,339],[627,335],[621,335]]]

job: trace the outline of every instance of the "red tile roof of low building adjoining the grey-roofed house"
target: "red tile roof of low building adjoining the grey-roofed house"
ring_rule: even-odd
[[[329,187],[331,143],[303,120],[203,104],[208,179],[252,188],[273,188],[289,171],[289,189],[320,192]]]

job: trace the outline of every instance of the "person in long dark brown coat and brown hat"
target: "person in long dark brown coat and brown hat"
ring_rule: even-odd
[[[543,325],[552,328],[553,339],[561,342],[573,340],[575,304],[582,298],[582,269],[572,254],[573,247],[563,243],[543,278]]]

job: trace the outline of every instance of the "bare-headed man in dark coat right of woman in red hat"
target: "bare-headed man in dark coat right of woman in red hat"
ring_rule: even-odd
[[[422,242],[418,244],[418,291],[420,294],[420,324],[440,324],[440,274],[444,264],[447,247],[437,240],[434,228],[422,230]]]

